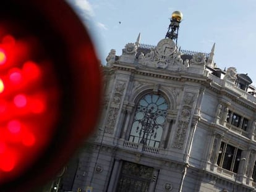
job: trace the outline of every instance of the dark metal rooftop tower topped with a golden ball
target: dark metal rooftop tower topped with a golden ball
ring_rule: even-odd
[[[176,40],[176,44],[177,44],[177,36],[179,31],[179,23],[181,23],[182,17],[183,17],[182,12],[180,12],[179,10],[176,10],[173,12],[173,14],[171,14],[171,23],[169,25],[168,31],[165,36],[165,38]]]

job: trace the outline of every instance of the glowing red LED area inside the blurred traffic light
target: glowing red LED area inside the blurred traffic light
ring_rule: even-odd
[[[33,164],[54,134],[59,86],[41,50],[33,36],[0,35],[0,183]]]

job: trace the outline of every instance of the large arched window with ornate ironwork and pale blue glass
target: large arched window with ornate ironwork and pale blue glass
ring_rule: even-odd
[[[168,103],[161,94],[145,94],[138,102],[129,141],[159,147]]]

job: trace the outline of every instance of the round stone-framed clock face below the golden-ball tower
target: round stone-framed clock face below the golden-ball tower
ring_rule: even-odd
[[[163,56],[169,56],[176,50],[176,44],[171,39],[163,39],[156,46],[156,52]]]

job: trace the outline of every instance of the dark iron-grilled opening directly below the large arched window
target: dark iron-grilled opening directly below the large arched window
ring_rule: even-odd
[[[153,177],[153,168],[132,162],[123,162],[116,192],[147,192]]]

